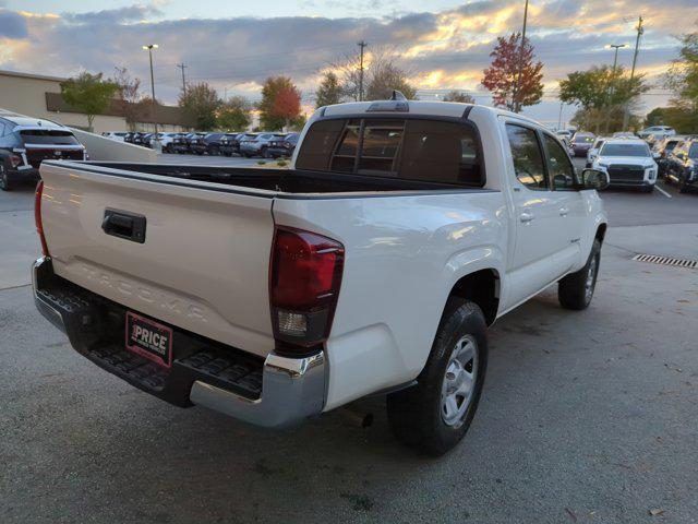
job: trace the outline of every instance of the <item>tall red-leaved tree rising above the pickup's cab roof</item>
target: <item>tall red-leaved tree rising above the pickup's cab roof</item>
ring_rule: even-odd
[[[524,106],[541,102],[543,63],[534,62],[533,46],[521,34],[498,37],[490,53],[492,64],[484,70],[482,85],[491,93],[495,106],[519,112]]]

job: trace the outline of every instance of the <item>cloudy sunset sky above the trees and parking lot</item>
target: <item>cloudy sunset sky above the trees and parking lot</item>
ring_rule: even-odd
[[[696,31],[696,0],[531,0],[529,35],[544,63],[545,96],[525,112],[556,122],[557,81],[575,70],[611,63],[605,46],[627,44],[633,59],[637,16],[645,17],[638,69],[655,83],[645,110],[665,104],[659,83],[676,56],[675,36]],[[173,103],[184,62],[189,82],[258,97],[270,74],[288,74],[312,105],[318,71],[342,55],[387,48],[400,56],[423,98],[479,85],[497,36],[519,31],[524,0],[0,0],[0,69],[69,76],[81,70],[111,74],[124,66],[148,82],[143,44],[157,43],[156,95]],[[564,108],[564,119],[574,107]]]

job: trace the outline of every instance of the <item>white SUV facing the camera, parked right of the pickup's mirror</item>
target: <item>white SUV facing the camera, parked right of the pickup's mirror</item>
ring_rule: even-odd
[[[657,183],[654,155],[640,139],[606,140],[592,167],[609,174],[611,187],[633,187],[651,192]]]

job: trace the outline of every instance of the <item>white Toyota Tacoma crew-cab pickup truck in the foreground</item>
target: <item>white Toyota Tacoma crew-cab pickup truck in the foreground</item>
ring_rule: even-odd
[[[467,431],[485,330],[557,283],[586,308],[607,175],[518,115],[400,99],[318,109],[290,169],[44,162],[41,313],[176,405],[286,427],[387,394],[398,440]]]

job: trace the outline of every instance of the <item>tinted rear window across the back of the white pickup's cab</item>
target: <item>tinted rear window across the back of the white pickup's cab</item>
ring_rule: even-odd
[[[321,120],[305,134],[296,164],[301,169],[482,187],[478,144],[476,131],[459,122]]]

